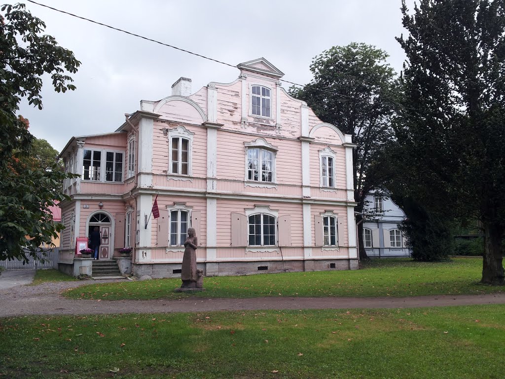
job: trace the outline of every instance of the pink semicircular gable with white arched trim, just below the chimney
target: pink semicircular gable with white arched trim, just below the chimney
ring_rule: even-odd
[[[167,120],[196,124],[207,121],[205,111],[193,100],[184,96],[169,96],[160,100],[153,112]]]

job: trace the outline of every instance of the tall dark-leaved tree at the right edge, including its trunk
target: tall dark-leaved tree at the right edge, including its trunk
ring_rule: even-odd
[[[402,3],[405,90],[396,124],[398,189],[438,214],[476,217],[482,282],[503,284],[505,2]]]

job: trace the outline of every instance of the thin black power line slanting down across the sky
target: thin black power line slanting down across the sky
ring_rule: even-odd
[[[197,54],[197,53],[193,53],[193,52],[190,52],[189,50],[185,50],[185,49],[181,49],[181,48],[178,48],[177,46],[174,46],[174,45],[171,45],[171,44],[168,44],[168,43],[165,43],[165,42],[161,42],[161,41],[158,41],[156,39],[152,39],[152,38],[148,38],[148,37],[144,37],[140,34],[135,34],[135,33],[132,33],[132,32],[129,32],[127,30],[124,30],[124,29],[120,29],[120,28],[116,28],[114,26],[111,26],[111,25],[107,25],[107,24],[104,24],[102,22],[98,22],[98,21],[94,21],[94,20],[91,20],[89,18],[86,18],[86,17],[82,17],[82,16],[78,16],[78,15],[75,15],[73,13],[70,13],[70,12],[66,12],[66,11],[62,11],[60,9],[57,9],[57,8],[53,8],[53,7],[49,7],[48,5],[45,5],[45,4],[41,4],[41,3],[37,3],[33,0],[26,0],[27,2],[29,3],[33,3],[33,4],[36,4],[40,7],[44,7],[44,8],[48,8],[48,9],[51,9],[53,11],[56,11],[56,12],[60,12],[60,13],[63,13],[63,14],[66,14],[66,15],[69,15],[69,16],[72,16],[72,17],[76,17],[78,19],[81,19],[81,20],[84,20],[84,21],[88,21],[88,22],[91,22],[93,24],[97,24],[97,25],[100,25],[100,26],[104,26],[106,28],[109,28],[109,29],[113,29],[113,30],[117,30],[117,31],[120,31],[122,33],[126,33],[126,34],[129,34],[129,35],[132,35],[134,37],[138,37],[138,38],[141,38],[141,39],[145,39],[147,41],[151,41],[151,42],[155,42],[155,43],[158,43],[158,44],[161,44],[163,46],[167,46],[168,48],[172,48],[172,49],[176,49],[176,50],[179,50],[181,52],[184,52],[184,53],[188,53],[188,54],[191,54],[191,55],[194,55],[196,57],[200,57],[200,58],[204,58],[204,59],[207,59],[209,61],[213,61],[213,62],[216,62],[216,63],[219,63],[219,64],[222,64],[222,65],[225,65],[225,66],[228,66],[228,67],[233,67],[233,68],[236,68],[237,66],[235,65],[231,65],[229,63],[226,63],[226,62],[222,62],[222,61],[219,61],[217,59],[214,59],[214,58],[209,58],[209,57],[206,57],[204,55],[201,55],[201,54]],[[357,80],[359,80],[357,77],[355,76],[352,76],[352,75],[347,75],[349,77],[352,77],[352,78],[355,78]],[[316,88],[316,87],[313,87],[309,84],[299,84],[299,83],[295,83],[295,82],[292,82],[292,81],[289,81],[289,80],[285,80],[285,79],[280,79],[281,81],[285,82],[285,83],[289,83],[289,84],[293,84],[293,85],[297,85],[297,86],[300,86],[302,88],[304,87],[308,87],[308,88],[312,88],[312,89],[315,89],[315,90],[318,90],[318,91],[322,91],[322,92],[326,92],[326,93],[330,93],[330,94],[333,94],[333,95],[336,95],[336,96],[339,96],[341,98],[345,98],[345,99],[350,99],[350,100],[358,100],[360,102],[363,102],[365,100],[363,99],[360,99],[360,98],[355,98],[355,97],[352,97],[352,96],[348,96],[348,95],[345,95],[345,94],[342,94],[342,93],[338,93],[338,92],[334,92],[334,91],[330,91],[330,90],[326,90],[326,89],[322,89],[322,88]],[[360,80],[361,81],[361,80]],[[364,83],[364,81],[362,81],[362,83]],[[414,111],[419,111],[421,112],[420,110],[418,109],[415,109],[415,108],[409,108],[409,107],[404,107],[404,106],[401,106],[401,105],[396,105],[394,103],[390,103],[390,102],[370,102],[370,101],[366,101],[367,103],[369,104],[387,104],[387,105],[390,105],[390,106],[393,106],[393,107],[396,107],[396,108],[401,108],[401,109],[410,109],[410,110],[414,110]]]

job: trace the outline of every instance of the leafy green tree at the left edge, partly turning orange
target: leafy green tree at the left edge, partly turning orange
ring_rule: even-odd
[[[28,120],[16,113],[21,97],[42,109],[41,76],[51,75],[56,91],[73,90],[80,62],[23,4],[4,5],[0,16],[0,260],[35,256],[63,226],[53,222],[48,206],[65,196],[58,184],[67,174],[55,160],[41,164],[31,155],[34,137]],[[72,174],[68,174],[73,176]],[[26,238],[28,237],[28,239]]]

